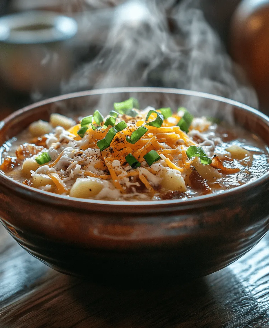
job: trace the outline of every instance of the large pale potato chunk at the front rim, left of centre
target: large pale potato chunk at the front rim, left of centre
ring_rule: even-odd
[[[70,190],[71,197],[91,198],[97,195],[104,187],[104,182],[98,178],[78,178]]]

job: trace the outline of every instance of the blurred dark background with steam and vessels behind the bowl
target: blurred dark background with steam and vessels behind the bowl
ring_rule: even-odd
[[[0,118],[116,86],[198,90],[269,113],[269,0],[1,0]]]

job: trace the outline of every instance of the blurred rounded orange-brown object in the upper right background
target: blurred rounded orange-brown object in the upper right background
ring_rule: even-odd
[[[269,104],[269,0],[243,0],[234,12],[230,34],[231,54],[247,72]]]

